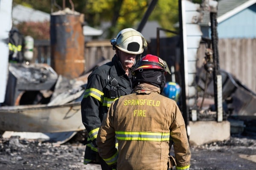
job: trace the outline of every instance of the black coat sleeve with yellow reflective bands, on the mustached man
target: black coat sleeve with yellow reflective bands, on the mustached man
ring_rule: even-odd
[[[101,119],[99,117],[99,107],[102,105],[105,87],[104,79],[97,74],[88,77],[84,98],[81,101],[81,116],[90,140],[96,140]]]

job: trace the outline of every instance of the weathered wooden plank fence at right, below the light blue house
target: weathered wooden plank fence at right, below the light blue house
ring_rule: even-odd
[[[198,67],[203,65],[205,49],[204,44],[198,49]],[[256,39],[220,39],[218,53],[220,68],[256,93]]]

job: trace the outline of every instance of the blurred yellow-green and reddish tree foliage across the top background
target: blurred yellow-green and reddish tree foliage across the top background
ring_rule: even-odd
[[[47,13],[74,8],[84,14],[85,22],[105,31],[112,38],[123,28],[135,28],[141,22],[151,0],[13,0],[15,4]],[[64,3],[65,2],[65,3]],[[178,22],[178,0],[158,0],[148,20],[156,20],[162,28],[175,30]],[[105,28],[103,23],[108,23]]]

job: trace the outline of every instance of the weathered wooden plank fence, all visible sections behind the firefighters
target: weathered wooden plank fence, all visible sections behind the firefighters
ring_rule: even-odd
[[[150,45],[150,44],[149,44]],[[203,65],[206,46],[198,48],[197,67]],[[35,42],[32,62],[50,65],[49,41]],[[242,84],[256,92],[256,39],[220,39],[218,41],[220,68],[233,74]],[[113,57],[115,51],[108,40],[90,41],[84,45],[84,70],[87,71],[97,62]]]

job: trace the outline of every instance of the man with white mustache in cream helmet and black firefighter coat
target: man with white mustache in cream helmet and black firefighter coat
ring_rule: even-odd
[[[88,138],[84,152],[84,164],[100,164],[102,170],[111,168],[99,156],[96,137],[111,103],[120,96],[131,94],[136,55],[143,53],[147,42],[133,28],[121,30],[111,41],[116,54],[111,62],[101,65],[89,75],[81,101],[81,117]]]

